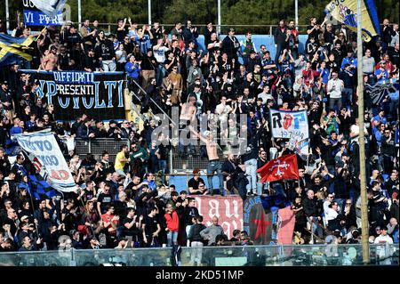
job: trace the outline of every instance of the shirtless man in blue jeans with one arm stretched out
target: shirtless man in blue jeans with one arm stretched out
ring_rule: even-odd
[[[209,186],[209,191],[213,195],[213,184],[212,177],[215,172],[218,174],[218,178],[220,180],[220,195],[223,196],[223,187],[224,187],[224,178],[222,175],[222,164],[220,163],[220,158],[218,157],[217,148],[218,144],[213,140],[212,134],[210,131],[205,131],[204,136],[195,132],[192,127],[190,127],[192,132],[198,137],[202,142],[205,143],[205,148],[207,150],[208,156],[208,164],[207,164],[207,181]],[[205,137],[205,138],[204,138]]]

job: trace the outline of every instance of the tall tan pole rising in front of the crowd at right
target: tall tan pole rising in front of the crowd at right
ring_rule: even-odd
[[[364,77],[363,77],[363,39],[361,37],[361,0],[357,0],[357,93],[358,93],[358,126],[360,144],[360,194],[361,194],[361,227],[363,244],[363,263],[370,263],[370,244],[368,229],[368,207],[365,184],[365,142],[364,142]]]

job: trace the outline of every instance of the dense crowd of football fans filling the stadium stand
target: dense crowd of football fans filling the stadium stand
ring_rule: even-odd
[[[283,194],[296,215],[293,241],[357,243],[360,240],[361,201],[357,126],[356,69],[363,62],[364,84],[390,84],[396,90],[378,104],[364,95],[370,240],[398,243],[398,24],[383,21],[381,37],[364,42],[364,57],[356,57],[356,35],[344,25],[310,19],[304,52],[294,22],[279,22],[274,32],[276,56],[266,45],[255,46],[252,33],[239,42],[235,29],[219,36],[209,23],[204,30],[177,23],[167,33],[159,23],[138,26],[119,20],[114,34],[106,35],[98,22],[85,20],[82,28],[67,23],[36,35],[33,61],[2,67],[0,86],[0,251],[100,247],[161,247],[181,245],[252,244],[246,231],[227,239],[218,224],[205,227],[198,215],[196,194],[238,193],[273,197]],[[4,25],[0,32],[4,31]],[[204,46],[197,38],[204,34]],[[13,37],[28,37],[23,23]],[[158,145],[152,137],[157,122],[148,119],[144,129],[128,120],[93,121],[84,113],[74,122],[57,122],[54,106],[36,96],[38,84],[19,69],[115,71],[126,73],[130,91],[138,93],[142,113],[171,113],[180,107],[181,118],[198,120],[216,114],[246,114],[247,147],[242,155],[222,161],[213,138],[218,127],[193,132],[206,143],[203,153],[180,147],[182,157],[208,158],[209,187],[194,171],[185,189],[175,189],[165,176],[172,145]],[[396,85],[397,84],[397,85]],[[146,94],[139,91],[139,86]],[[133,96],[135,97],[135,96]],[[152,100],[150,100],[150,98]],[[161,109],[161,110],[160,110]],[[299,160],[299,181],[260,185],[256,169],[268,160],[290,154],[286,139],[274,139],[268,126],[269,111],[307,110],[309,154]],[[150,111],[151,110],[151,111]],[[186,126],[186,125],[185,125]],[[105,151],[96,160],[65,152],[79,187],[56,191],[52,197],[33,200],[28,174],[35,167],[12,134],[52,128],[59,137],[82,139],[126,138],[115,160]],[[230,137],[239,132],[235,128]],[[60,142],[62,148],[62,142]],[[180,145],[181,146],[181,145]],[[230,152],[234,147],[228,145]],[[65,147],[63,148],[65,149]],[[13,161],[9,160],[13,156]],[[199,157],[200,158],[200,157]],[[158,180],[158,172],[161,178]],[[219,176],[219,186],[212,184]],[[180,192],[180,193],[178,193]],[[59,243],[61,235],[69,243]],[[331,236],[330,238],[328,238]],[[194,259],[195,260],[195,259]]]

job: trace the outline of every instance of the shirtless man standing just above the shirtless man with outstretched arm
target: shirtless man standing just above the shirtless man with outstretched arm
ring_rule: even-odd
[[[187,128],[188,124],[191,126],[195,125],[196,120],[196,97],[189,96],[188,102],[182,104],[182,111],[180,112],[180,153],[182,157],[186,157],[186,146],[188,142],[183,142],[183,140],[188,140],[189,130]],[[195,153],[195,146],[193,144],[189,144],[189,156]]]

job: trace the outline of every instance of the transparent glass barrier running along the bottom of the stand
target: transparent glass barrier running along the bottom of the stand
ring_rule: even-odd
[[[181,247],[181,266],[352,266],[363,265],[362,246],[276,245]],[[1,266],[171,266],[171,247],[70,249],[0,253]],[[196,256],[196,257],[194,257]],[[372,244],[371,265],[398,265],[398,244]]]

